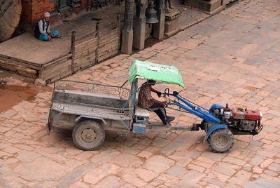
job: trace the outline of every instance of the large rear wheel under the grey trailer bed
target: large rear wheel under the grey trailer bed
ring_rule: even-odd
[[[84,151],[95,150],[102,146],[105,131],[96,121],[85,120],[73,128],[72,138],[79,149]]]

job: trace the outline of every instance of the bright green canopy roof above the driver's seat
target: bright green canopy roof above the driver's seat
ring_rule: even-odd
[[[181,72],[174,66],[161,65],[153,62],[133,60],[129,69],[128,81],[132,83],[136,76],[144,79],[174,83],[184,87]]]

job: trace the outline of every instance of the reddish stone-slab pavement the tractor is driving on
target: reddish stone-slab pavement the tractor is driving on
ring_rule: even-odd
[[[108,133],[101,149],[83,152],[71,133],[46,135],[52,93],[42,91],[0,114],[1,187],[280,187],[279,24],[279,1],[241,1],[151,48],[69,77],[120,86],[132,59],[175,65],[183,95],[197,104],[263,112],[262,132],[235,136],[231,152],[211,152],[203,131]],[[199,121],[169,114],[180,125]]]

